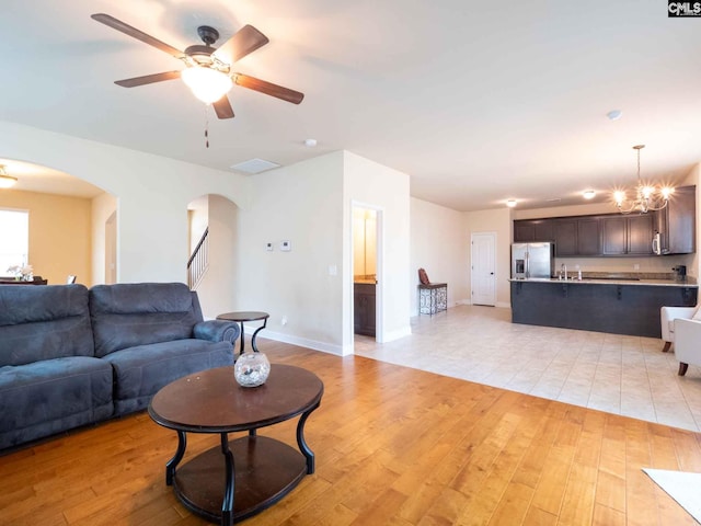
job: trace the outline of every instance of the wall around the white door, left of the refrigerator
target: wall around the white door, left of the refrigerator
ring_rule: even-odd
[[[512,215],[508,208],[466,213],[468,226],[468,239],[473,233],[494,232],[495,243],[495,281],[496,281],[496,307],[510,307],[510,250],[512,250]],[[469,268],[469,266],[468,266]],[[470,273],[468,279],[472,279]]]

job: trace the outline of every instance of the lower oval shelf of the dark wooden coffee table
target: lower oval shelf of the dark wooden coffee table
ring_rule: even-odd
[[[307,474],[307,461],[297,449],[265,436],[229,442],[234,459],[233,519],[255,515],[289,493]],[[221,522],[225,458],[219,446],[179,467],[175,495],[192,512]]]

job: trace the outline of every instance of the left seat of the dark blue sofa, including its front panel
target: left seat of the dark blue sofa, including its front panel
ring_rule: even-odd
[[[112,366],[74,356],[0,367],[0,449],[113,414]]]

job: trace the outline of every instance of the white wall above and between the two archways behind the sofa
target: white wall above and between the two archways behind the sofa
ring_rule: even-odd
[[[0,157],[88,181],[118,199],[119,282],[186,282],[187,204],[246,201],[244,178],[174,159],[0,122]]]

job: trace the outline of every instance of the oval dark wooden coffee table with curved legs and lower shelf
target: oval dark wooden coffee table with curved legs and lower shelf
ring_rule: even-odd
[[[314,472],[314,454],[304,441],[304,423],[321,403],[323,382],[313,373],[273,364],[260,387],[239,386],[233,367],[196,373],[163,387],[149,415],[177,432],[177,450],[165,465],[165,483],[194,513],[231,525],[275,504],[304,474]],[[301,415],[296,448],[256,430]],[[228,434],[248,432],[229,441]],[[218,433],[221,444],[179,468],[186,433]]]

